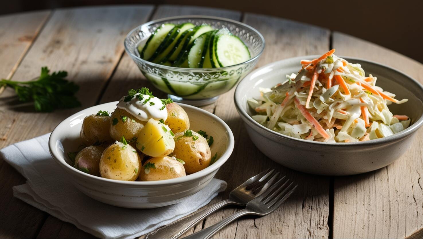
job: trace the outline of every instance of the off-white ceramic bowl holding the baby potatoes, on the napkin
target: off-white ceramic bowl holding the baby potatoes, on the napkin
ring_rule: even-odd
[[[211,166],[185,177],[151,182],[105,179],[77,170],[71,165],[67,153],[77,151],[82,145],[80,128],[83,119],[99,110],[113,112],[117,103],[93,106],[68,117],[53,130],[49,139],[50,153],[65,171],[63,177],[68,177],[69,182],[91,198],[126,208],[154,208],[176,204],[206,187],[232,153],[233,134],[222,119],[203,109],[179,104],[187,112],[192,130],[204,130],[213,136],[211,155],[217,153],[218,160]]]

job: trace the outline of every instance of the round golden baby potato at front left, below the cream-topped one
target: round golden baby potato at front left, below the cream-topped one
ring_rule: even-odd
[[[131,145],[116,142],[104,150],[99,167],[104,178],[135,181],[140,174],[141,158]]]

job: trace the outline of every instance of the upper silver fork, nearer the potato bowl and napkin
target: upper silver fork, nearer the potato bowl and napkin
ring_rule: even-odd
[[[194,214],[150,232],[145,238],[179,238],[201,220],[228,205],[245,206],[249,201],[260,196],[279,175],[274,169],[267,169],[245,181],[242,185],[232,190],[229,198],[217,204],[199,210]]]

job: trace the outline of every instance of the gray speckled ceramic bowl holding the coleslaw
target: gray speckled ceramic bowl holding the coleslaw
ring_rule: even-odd
[[[423,124],[423,87],[416,80],[386,65],[357,58],[344,57],[360,63],[366,75],[377,76],[377,85],[408,98],[401,105],[389,106],[393,114],[406,114],[412,119],[409,128],[382,139],[351,143],[325,143],[295,139],[267,129],[255,122],[247,105],[247,98],[257,98],[259,87],[270,88],[297,73],[302,59],[319,56],[295,57],[273,62],[248,74],[236,87],[234,100],[239,115],[255,146],[267,157],[288,168],[310,174],[352,175],[382,168],[398,159],[409,148],[413,136]]]

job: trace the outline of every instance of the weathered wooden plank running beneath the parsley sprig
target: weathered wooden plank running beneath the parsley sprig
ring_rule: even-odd
[[[83,106],[46,114],[34,113],[32,106],[10,109],[9,104],[2,105],[0,119],[8,122],[10,127],[0,128],[3,139],[0,148],[51,132],[70,114],[92,106],[124,52],[122,42],[126,33],[139,22],[144,22],[152,10],[152,6],[146,5],[55,11],[12,79],[32,79],[44,65],[52,70],[66,70],[68,79],[81,87],[78,97]],[[6,91],[4,94],[11,94]],[[45,213],[13,198],[12,187],[24,183],[25,179],[6,163],[0,170],[0,236],[35,236],[39,223],[44,222]]]

